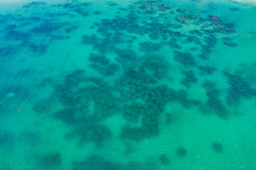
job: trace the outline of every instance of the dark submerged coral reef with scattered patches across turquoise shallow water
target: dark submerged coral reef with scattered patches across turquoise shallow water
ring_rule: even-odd
[[[106,11],[96,8],[93,3],[72,0],[61,5],[53,4],[51,7],[61,8],[62,12],[48,12],[42,14],[42,17],[17,17],[29,23],[21,22],[29,25],[29,32],[21,31],[19,28],[22,25],[0,18],[0,23],[4,25],[2,38],[17,41],[33,54],[50,51],[50,47],[45,45],[48,43],[47,38],[51,41],[68,38],[73,40],[73,31],[84,31],[79,34],[79,44],[74,44],[85,53],[82,53],[82,57],[86,66],[83,63],[81,66],[73,64],[73,72],[65,70],[62,73],[64,78],[42,79],[44,82],[37,84],[37,88],[51,86],[53,94],[36,101],[32,107],[36,114],[44,113],[44,116],[50,116],[58,123],[71,127],[69,137],[65,140],[74,140],[79,147],[93,144],[96,146],[95,150],[104,148],[108,142],[112,143],[113,136],[124,143],[138,144],[162,135],[162,122],[168,127],[175,123],[173,113],[176,110],[167,113],[170,102],[184,110],[192,108],[203,115],[227,119],[232,112],[230,106],[238,106],[242,98],[251,99],[256,96],[256,89],[244,77],[217,71],[221,70],[219,66],[214,67],[212,62],[206,61],[212,61],[210,54],[217,49],[215,47],[220,37],[225,36],[222,38],[224,45],[233,48],[237,46],[235,42],[238,41],[232,35],[236,32],[237,23],[228,23],[230,21],[222,15],[207,16],[205,13],[208,11],[197,13],[178,9],[175,5],[169,5],[171,2],[163,4],[161,0],[129,3],[130,5],[121,7],[123,4],[105,2],[106,9],[114,11],[107,18]],[[42,8],[46,4],[32,2],[23,8]],[[212,5],[208,6],[210,8]],[[212,7],[212,10],[217,9]],[[229,10],[237,11],[238,8]],[[63,23],[58,17],[77,20]],[[90,20],[91,17],[93,20]],[[15,19],[18,20],[17,18]],[[90,21],[88,25],[78,25],[77,21],[82,22],[85,18]],[[38,42],[32,41],[35,37],[39,38]],[[90,48],[93,52],[88,52]],[[0,59],[13,56],[17,51],[15,45],[3,45]],[[74,60],[71,62],[75,63]],[[24,69],[19,74],[27,76],[29,72],[30,70]],[[182,77],[179,75],[177,78],[175,73],[181,73]],[[220,90],[213,82],[207,81],[220,73],[227,78],[230,85],[228,90]],[[193,99],[190,91],[194,87],[200,87],[200,82],[203,81],[203,92],[205,90],[207,99],[201,102]],[[0,90],[7,102],[27,98],[29,92],[23,86],[10,86]],[[226,96],[226,100],[223,96]],[[51,100],[53,97],[57,99]],[[55,102],[62,107],[53,107]],[[3,101],[0,104],[0,111],[6,109],[5,103]],[[122,121],[125,122],[121,122],[117,135],[105,122],[116,116],[124,118]],[[33,137],[36,138],[32,134],[30,138]],[[0,136],[0,147],[9,140],[6,134]],[[127,151],[129,147],[127,148],[125,156],[136,152],[136,149]],[[185,148],[181,146],[174,149],[178,157],[185,157]],[[217,142],[212,143],[212,149],[218,153],[223,152],[222,145]],[[161,153],[157,158],[155,161],[158,164],[160,162],[161,166],[170,164],[166,153]],[[63,160],[60,153],[49,153],[41,159],[42,166],[48,169],[58,169]],[[159,167],[152,160],[122,164],[97,155],[90,155],[86,160],[76,161],[73,165],[73,170],[150,169],[156,170]]]

